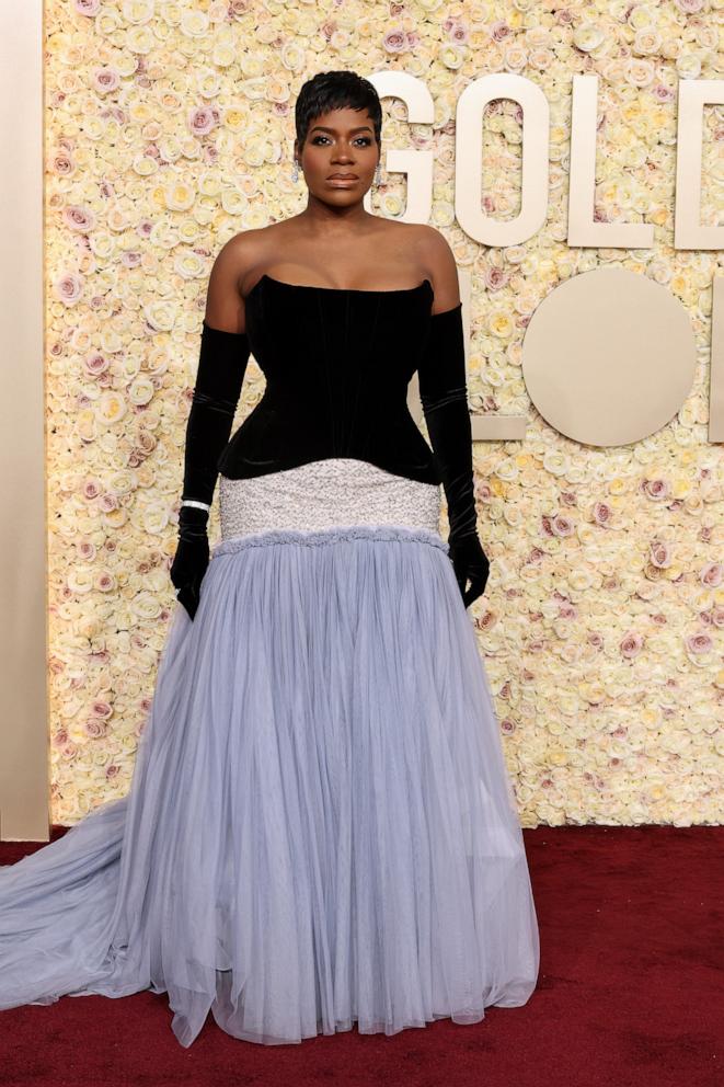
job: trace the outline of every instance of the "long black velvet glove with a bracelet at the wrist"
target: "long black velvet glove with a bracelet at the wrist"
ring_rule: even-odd
[[[193,619],[209,563],[207,525],[217,464],[229,440],[250,355],[245,332],[212,329],[204,320],[196,385],[186,424],[184,485],[179,512],[179,546],[170,576],[176,597]]]

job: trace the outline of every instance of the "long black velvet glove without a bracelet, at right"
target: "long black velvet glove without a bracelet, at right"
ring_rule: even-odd
[[[433,313],[417,373],[427,433],[448,505],[449,558],[463,604],[469,607],[485,592],[490,563],[478,538],[462,302]]]

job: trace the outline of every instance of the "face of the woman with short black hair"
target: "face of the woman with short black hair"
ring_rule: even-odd
[[[334,204],[363,199],[375,178],[379,146],[367,110],[331,110],[309,125],[301,155],[297,158],[310,193]],[[346,175],[337,181],[335,174]]]

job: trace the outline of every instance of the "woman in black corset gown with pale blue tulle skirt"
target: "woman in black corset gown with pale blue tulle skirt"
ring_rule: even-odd
[[[363,207],[367,80],[315,76],[296,122],[306,209],[232,239],[209,281],[180,603],[130,791],[0,872],[0,1008],[150,987],[182,1045],[209,1010],[275,1044],[479,1022],[535,988],[466,611],[487,560],[455,262],[436,230]],[[229,442],[252,347],[266,390]],[[415,370],[432,448],[406,409]]]

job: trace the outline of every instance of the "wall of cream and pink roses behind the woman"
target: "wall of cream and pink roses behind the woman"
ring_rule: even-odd
[[[676,92],[721,78],[722,0],[402,3],[47,0],[46,394],[51,817],[129,787],[176,606],[183,446],[211,263],[296,214],[294,102],[320,70],[418,77],[432,125],[383,100],[384,152],[435,153],[430,222],[471,277],[471,409],[525,413],[474,447],[491,559],[470,609],[524,825],[719,823],[724,815],[724,491],[708,443],[716,252],[675,251]],[[453,214],[455,112],[471,80],[522,75],[551,107],[551,197],[528,242],[490,249]],[[596,217],[655,226],[651,250],[566,244],[571,87],[599,77]],[[517,214],[520,113],[487,110],[486,209]],[[702,222],[721,214],[721,107],[704,112]],[[690,314],[694,387],[632,446],[596,449],[537,414],[521,343],[564,279],[619,265]],[[252,359],[235,425],[263,392]],[[443,523],[441,529],[446,525]],[[219,536],[215,503],[211,545]]]

